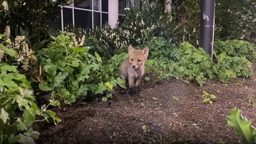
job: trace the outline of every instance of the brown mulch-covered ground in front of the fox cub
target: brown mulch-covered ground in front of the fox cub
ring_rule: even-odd
[[[203,91],[218,96],[213,105],[202,102]],[[256,77],[229,84],[209,80],[203,87],[180,80],[144,81],[139,95],[118,90],[108,102],[81,99],[54,109],[62,123],[34,127],[41,132],[37,143],[239,143],[241,138],[227,126],[227,115],[239,108],[256,124],[249,95],[256,100]]]

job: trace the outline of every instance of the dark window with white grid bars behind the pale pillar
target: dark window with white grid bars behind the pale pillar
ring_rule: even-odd
[[[118,0],[119,18],[125,15],[129,1],[139,6],[140,0]],[[151,0],[156,1],[156,0]],[[108,0],[73,0],[70,5],[60,6],[59,26],[63,30],[67,25],[82,28],[95,28],[108,22]]]

